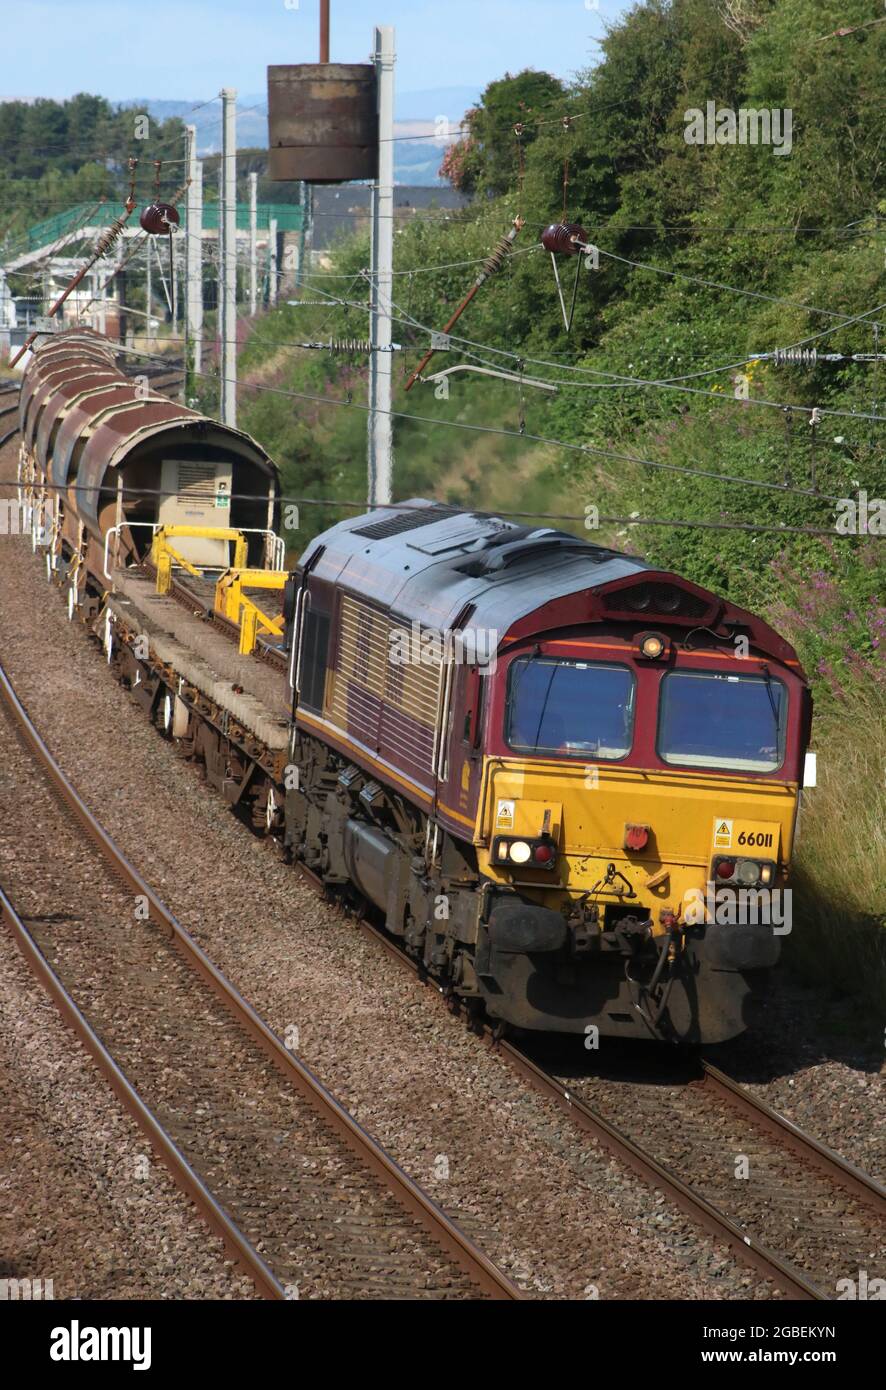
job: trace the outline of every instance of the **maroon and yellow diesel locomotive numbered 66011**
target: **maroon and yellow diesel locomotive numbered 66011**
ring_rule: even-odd
[[[811,723],[766,623],[572,534],[423,499],[317,537],[288,616],[285,834],[314,872],[502,1023],[746,1027],[790,926],[766,909]]]

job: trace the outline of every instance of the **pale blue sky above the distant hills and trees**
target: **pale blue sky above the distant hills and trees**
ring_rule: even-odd
[[[374,24],[396,29],[403,93],[483,88],[506,70],[569,76],[620,0],[331,0],[331,57],[366,61]],[[0,96],[260,96],[268,63],[317,61],[317,0],[26,0],[3,19]]]

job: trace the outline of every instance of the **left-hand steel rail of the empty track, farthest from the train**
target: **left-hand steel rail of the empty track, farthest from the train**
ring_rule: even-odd
[[[145,1104],[139,1093],[120,1069],[111,1054],[107,1051],[99,1036],[92,1029],[89,1020],[81,1013],[75,999],[65,990],[64,984],[53,970],[51,965],[40,951],[39,945],[28,931],[28,927],[15,912],[15,908],[0,888],[0,917],[6,922],[10,933],[18,945],[26,965],[54,999],[58,1012],[65,1023],[74,1030],[76,1038],[83,1044],[99,1066],[99,1070],[108,1081],[124,1108],[135,1119],[136,1125],[163,1159],[174,1182],[191,1197],[195,1207],[206,1223],[224,1241],[224,1247],[232,1259],[253,1280],[263,1298],[285,1298],[287,1293],[278,1283],[273,1272],[261,1259],[257,1250],[249,1243],[242,1230],[231,1220],[224,1207],[216,1201],[209,1187],[193,1170],[175,1140],[163,1127],[154,1112]]]

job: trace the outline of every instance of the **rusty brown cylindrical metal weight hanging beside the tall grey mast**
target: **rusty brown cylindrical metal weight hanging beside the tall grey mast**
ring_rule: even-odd
[[[277,64],[267,70],[268,174],[344,183],[378,177],[371,63]]]

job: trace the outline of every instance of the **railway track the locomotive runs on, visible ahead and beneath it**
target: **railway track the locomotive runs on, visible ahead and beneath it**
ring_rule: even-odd
[[[325,895],[321,880],[298,867]],[[405,969],[423,973],[385,931],[357,920]],[[563,1076],[488,1024],[472,1027],[579,1130],[789,1298],[833,1300],[839,1279],[886,1262],[886,1188],[711,1062],[682,1058],[657,1106],[650,1091],[662,1088],[644,1086],[636,1063],[616,1083],[588,1074],[588,1063]],[[562,1061],[562,1040],[558,1049]],[[741,1158],[747,1179],[737,1176]]]

